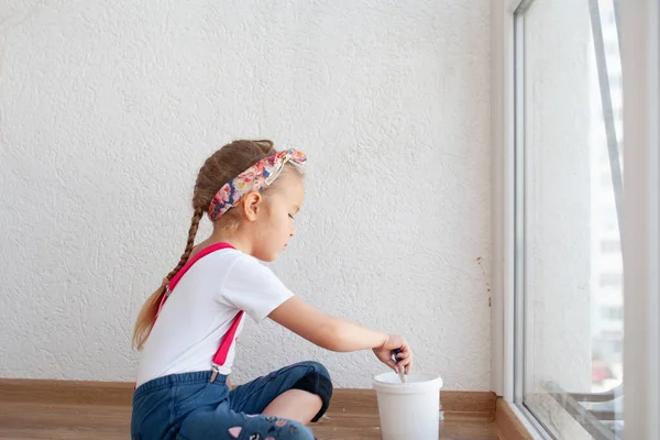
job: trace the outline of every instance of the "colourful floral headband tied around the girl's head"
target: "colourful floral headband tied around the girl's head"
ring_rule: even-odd
[[[298,150],[282,151],[265,157],[250,168],[229,180],[220,188],[209,206],[211,221],[218,220],[224,212],[238,205],[243,196],[252,191],[263,191],[282,173],[287,162],[302,165],[307,161],[305,153]]]

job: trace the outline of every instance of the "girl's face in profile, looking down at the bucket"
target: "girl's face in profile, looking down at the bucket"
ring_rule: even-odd
[[[265,262],[277,260],[296,234],[295,217],[302,207],[305,188],[297,176],[280,176],[285,180],[268,194],[264,211],[257,219],[258,237],[253,248],[253,256]]]

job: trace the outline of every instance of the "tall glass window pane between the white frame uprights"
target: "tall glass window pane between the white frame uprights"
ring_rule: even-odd
[[[615,3],[535,0],[518,11],[517,23],[522,403],[556,438],[620,438],[623,90]]]

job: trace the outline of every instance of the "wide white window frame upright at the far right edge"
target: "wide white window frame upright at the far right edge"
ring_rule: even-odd
[[[624,424],[660,439],[660,7],[622,0]]]

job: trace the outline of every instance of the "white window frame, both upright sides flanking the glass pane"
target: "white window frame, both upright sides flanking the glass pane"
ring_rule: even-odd
[[[515,365],[515,64],[514,13],[526,0],[491,1],[492,389],[512,404]],[[660,7],[622,0],[624,70],[624,424],[629,439],[660,439]],[[639,362],[642,360],[642,362]]]

